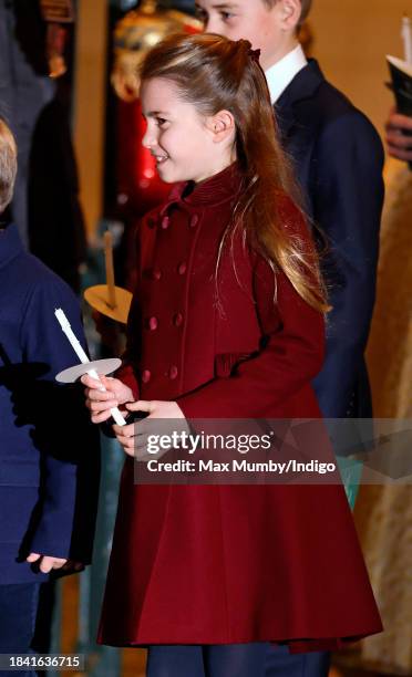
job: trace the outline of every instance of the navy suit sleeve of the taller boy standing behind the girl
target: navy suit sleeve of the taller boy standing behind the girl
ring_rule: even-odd
[[[323,416],[347,416],[362,368],[375,295],[383,149],[359,112],[326,126],[317,148],[315,221],[327,235],[323,272],[333,306],[327,354],[313,385]]]

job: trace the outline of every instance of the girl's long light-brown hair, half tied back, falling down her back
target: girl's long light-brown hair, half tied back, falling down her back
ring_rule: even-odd
[[[243,229],[249,247],[281,269],[307,303],[326,312],[318,254],[293,232],[290,209],[285,209],[289,196],[302,212],[300,191],[280,146],[264,71],[250,48],[247,40],[210,33],[171,35],[147,54],[141,79],[174,82],[182,100],[200,115],[225,110],[233,114],[243,187],[230,229]],[[285,222],[288,213],[290,227]]]

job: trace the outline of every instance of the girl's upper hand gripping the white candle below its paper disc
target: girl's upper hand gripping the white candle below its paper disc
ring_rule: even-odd
[[[85,405],[91,412],[94,424],[107,420],[111,417],[110,410],[114,407],[124,405],[126,402],[133,402],[132,389],[119,378],[107,378],[106,376],[100,378],[101,383],[87,374],[81,378],[82,384],[86,386],[84,392]],[[100,389],[102,385],[106,388],[106,393]]]

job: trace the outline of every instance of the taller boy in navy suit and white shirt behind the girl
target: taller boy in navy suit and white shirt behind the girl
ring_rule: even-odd
[[[372,416],[364,351],[372,317],[383,204],[383,148],[368,121],[307,60],[298,31],[311,0],[196,0],[205,30],[260,49],[284,147],[309,218],[323,232],[328,344],[315,389],[328,418]],[[303,660],[303,663],[301,663]],[[326,654],[268,657],[267,675],[327,675]]]

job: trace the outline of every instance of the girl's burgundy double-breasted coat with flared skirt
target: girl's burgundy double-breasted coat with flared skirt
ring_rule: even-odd
[[[275,304],[272,270],[236,241],[216,282],[239,185],[235,165],[190,194],[178,186],[142,222],[120,377],[136,397],[177,400],[187,418],[320,417],[310,381],[322,315],[279,272]],[[287,198],[281,211],[310,248]],[[341,486],[135,486],[126,459],[101,643],[302,652],[380,629]]]

